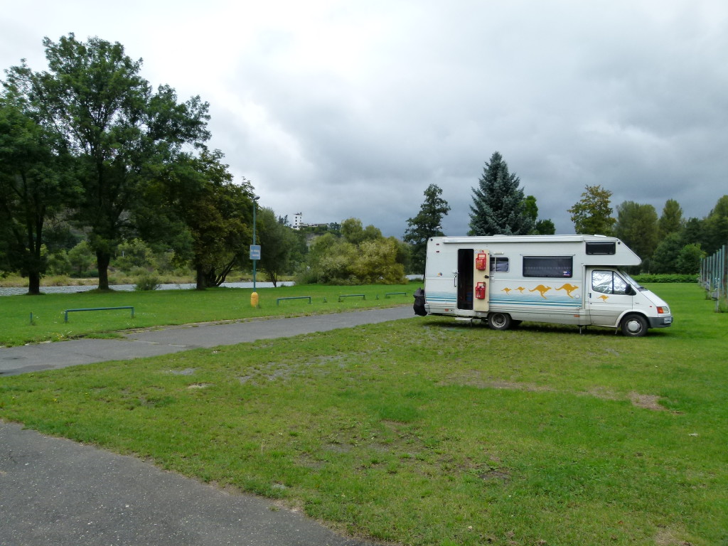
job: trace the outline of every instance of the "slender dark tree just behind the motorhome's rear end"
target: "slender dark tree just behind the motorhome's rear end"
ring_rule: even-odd
[[[430,237],[444,235],[440,224],[448,213],[448,202],[440,197],[443,190],[437,184],[430,184],[424,190],[424,202],[414,218],[407,219],[409,226],[405,230],[404,242],[411,245],[412,271],[424,274],[424,262],[427,256],[427,241]]]

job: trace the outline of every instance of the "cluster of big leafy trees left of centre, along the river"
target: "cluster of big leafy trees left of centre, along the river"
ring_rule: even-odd
[[[112,260],[132,263],[125,252],[189,266],[197,288],[248,266],[254,189],[207,146],[209,105],[154,90],[119,43],[70,33],[43,44],[47,71],[22,60],[2,82],[0,272],[20,272],[37,294],[49,268],[87,270],[89,255],[100,289]],[[269,248],[261,269],[275,282],[301,240],[272,210],[256,224]]]

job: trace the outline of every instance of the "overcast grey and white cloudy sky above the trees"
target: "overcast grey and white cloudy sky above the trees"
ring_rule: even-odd
[[[612,206],[728,194],[724,0],[0,0],[0,68],[42,39],[121,42],[143,76],[210,103],[210,146],[261,205],[401,237],[424,189],[467,232],[500,151],[539,218],[586,185]],[[4,75],[3,75],[4,76]]]

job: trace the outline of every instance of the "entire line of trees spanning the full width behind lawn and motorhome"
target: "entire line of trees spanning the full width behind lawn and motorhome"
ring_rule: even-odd
[[[269,280],[296,273],[299,282],[403,282],[424,273],[427,240],[443,235],[450,207],[442,189],[424,191],[403,240],[348,218],[326,229],[293,230],[272,209],[258,209],[250,181],[234,181],[223,152],[210,149],[209,105],[179,100],[168,85],[141,77],[119,43],[79,41],[73,33],[44,39],[48,69],[25,60],[5,70],[0,94],[0,274],[20,272],[39,293],[47,272],[89,272],[108,289],[109,269],[194,272],[197,288],[220,285],[250,269],[248,245]],[[683,218],[668,199],[625,202],[613,216],[611,192],[587,186],[569,209],[577,233],[615,234],[652,272],[693,272],[704,252],[728,239],[728,196],[708,217]],[[499,152],[472,189],[471,235],[553,234],[539,219]]]

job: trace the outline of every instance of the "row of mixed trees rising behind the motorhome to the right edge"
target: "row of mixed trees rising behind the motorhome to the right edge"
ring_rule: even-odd
[[[495,151],[472,189],[469,235],[555,234],[550,219],[538,218],[537,199],[526,195],[521,180],[510,173]],[[404,240],[411,245],[413,270],[424,273],[427,240],[442,236],[441,223],[450,207],[442,189],[424,191],[419,214],[409,218]],[[705,218],[684,218],[675,199],[667,199],[661,215],[653,205],[625,201],[612,207],[612,191],[585,186],[581,199],[567,211],[574,231],[585,235],[614,235],[642,258],[634,273],[696,274],[700,260],[728,242],[728,195]]]

